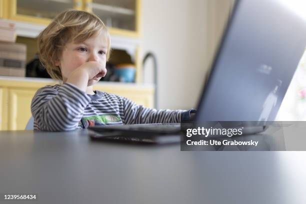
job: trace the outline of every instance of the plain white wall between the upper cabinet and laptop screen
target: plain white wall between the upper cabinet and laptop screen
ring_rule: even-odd
[[[143,54],[152,51],[157,57],[158,108],[196,107],[228,15],[228,3],[223,2],[142,0]],[[145,64],[145,82],[152,81],[151,62]]]

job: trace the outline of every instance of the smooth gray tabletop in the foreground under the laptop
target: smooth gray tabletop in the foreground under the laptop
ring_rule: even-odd
[[[94,142],[86,129],[0,131],[0,203],[306,203],[305,156]]]

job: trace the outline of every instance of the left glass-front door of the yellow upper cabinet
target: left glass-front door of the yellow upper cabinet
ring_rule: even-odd
[[[7,17],[13,20],[48,24],[67,8],[82,8],[81,0],[6,0]]]

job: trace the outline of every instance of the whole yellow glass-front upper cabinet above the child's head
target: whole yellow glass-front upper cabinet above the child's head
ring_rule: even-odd
[[[99,16],[111,34],[139,36],[140,0],[0,0],[3,18],[47,25],[68,8]]]

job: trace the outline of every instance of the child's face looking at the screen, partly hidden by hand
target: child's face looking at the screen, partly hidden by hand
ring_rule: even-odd
[[[61,69],[62,80],[65,82],[70,73],[87,61],[96,61],[105,67],[107,42],[102,33],[92,36],[80,43],[66,43],[60,60],[55,62]],[[97,80],[90,79],[88,86]]]

